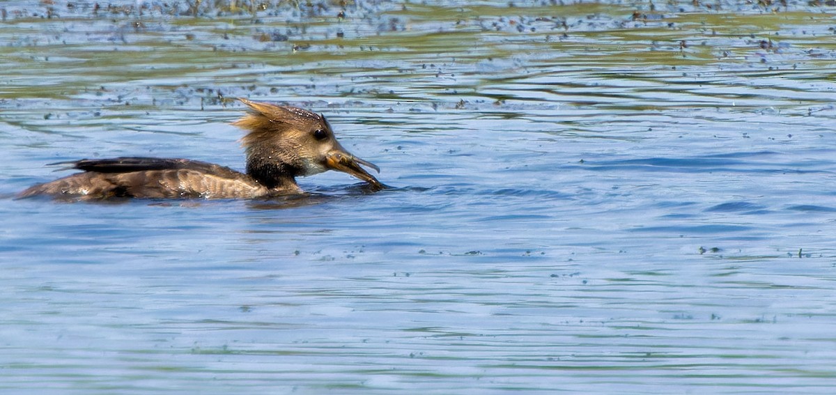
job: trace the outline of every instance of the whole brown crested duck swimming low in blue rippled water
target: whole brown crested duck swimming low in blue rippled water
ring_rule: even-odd
[[[346,151],[323,115],[297,107],[239,99],[249,112],[232,123],[247,131],[242,146],[247,172],[229,167],[155,157],[82,159],[67,164],[84,172],[29,187],[18,195],[104,198],[269,198],[302,193],[295,178],[337,170],[385,188],[364,165],[380,168]]]

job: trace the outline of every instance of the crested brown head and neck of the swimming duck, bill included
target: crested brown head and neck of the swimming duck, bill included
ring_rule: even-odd
[[[383,189],[363,167],[380,168],[346,151],[323,115],[297,107],[239,99],[249,113],[232,123],[247,131],[242,145],[247,152],[247,174],[265,187],[281,187],[294,177],[327,170],[346,172]]]

